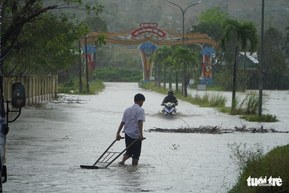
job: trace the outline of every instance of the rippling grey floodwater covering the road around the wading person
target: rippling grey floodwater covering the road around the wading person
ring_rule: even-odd
[[[17,121],[9,124],[4,192],[226,192],[237,179],[228,143],[247,143],[248,148],[258,143],[267,152],[289,142],[288,133],[144,132],[146,140],[137,167],[131,166],[131,159],[118,167],[120,157],[106,169],[82,169],[80,165],[93,165],[114,141],[123,111],[132,106],[137,93],[146,98],[142,106],[145,130],[187,125],[234,128],[242,124],[283,130],[289,122],[288,91],[268,94],[271,97],[268,109],[276,112],[280,122],[252,123],[180,100],[178,114],[166,119],[160,112],[165,95],[141,89],[137,83],[105,85],[106,89],[98,95],[69,96],[81,99],[80,103],[47,103],[42,109],[22,109]],[[194,92],[188,89],[188,93]],[[111,150],[120,152],[124,147],[121,140]]]

